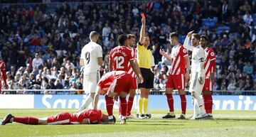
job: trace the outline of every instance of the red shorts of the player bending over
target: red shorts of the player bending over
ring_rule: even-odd
[[[124,73],[122,75],[119,75],[112,84],[110,85],[110,88],[107,89],[107,92],[116,92],[116,93],[121,93],[121,92],[127,92],[129,94],[129,90],[131,89],[132,86],[132,76]]]

